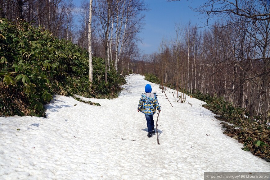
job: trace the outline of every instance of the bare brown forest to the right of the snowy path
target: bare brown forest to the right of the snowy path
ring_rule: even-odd
[[[152,73],[181,92],[223,97],[245,108],[243,114],[269,122],[270,2],[207,3],[194,11],[205,14],[207,21],[213,16],[224,19],[206,23],[205,30],[191,22],[176,24],[175,37],[163,39],[159,50],[143,56],[135,71]]]

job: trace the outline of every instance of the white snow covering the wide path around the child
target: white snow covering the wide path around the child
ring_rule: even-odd
[[[174,90],[127,76],[116,99],[56,95],[47,118],[0,117],[0,179],[204,179],[204,172],[270,172],[270,164],[223,134],[220,121],[187,96],[173,102]],[[149,83],[161,105],[158,134],[147,137],[137,112]],[[176,96],[176,95],[175,95]],[[77,106],[74,106],[77,104]],[[192,106],[190,105],[192,104]],[[157,115],[154,115],[156,121]]]

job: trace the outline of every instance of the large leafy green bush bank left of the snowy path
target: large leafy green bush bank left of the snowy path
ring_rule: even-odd
[[[0,116],[45,116],[52,95],[117,97],[123,76],[93,58],[93,83],[85,49],[24,21],[0,19]]]

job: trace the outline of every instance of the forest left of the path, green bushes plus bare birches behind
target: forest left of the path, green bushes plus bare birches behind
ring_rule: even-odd
[[[89,1],[1,0],[1,115],[45,116],[54,94],[117,97],[118,64],[138,56],[145,10],[143,1],[94,1],[89,82]]]

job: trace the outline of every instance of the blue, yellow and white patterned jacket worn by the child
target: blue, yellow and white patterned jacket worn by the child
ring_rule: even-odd
[[[142,94],[138,109],[146,115],[155,114],[155,108],[160,110],[160,104],[155,93]]]

